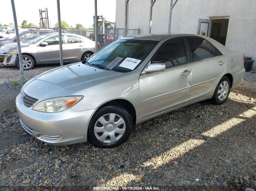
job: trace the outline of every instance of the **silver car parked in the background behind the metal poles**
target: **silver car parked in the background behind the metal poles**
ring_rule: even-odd
[[[31,34],[35,35],[35,34]],[[29,38],[29,37],[27,37]],[[88,59],[95,53],[95,42],[76,34],[62,33],[63,61],[65,63]],[[45,34],[28,43],[21,43],[24,70],[29,70],[35,64],[58,63],[59,37],[56,33]],[[0,63],[17,65],[19,67],[17,43],[9,43],[0,48]]]

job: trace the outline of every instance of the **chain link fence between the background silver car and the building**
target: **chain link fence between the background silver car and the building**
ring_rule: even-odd
[[[88,39],[95,40],[94,28],[88,29],[63,29],[64,32],[78,34]],[[127,36],[140,34],[140,29],[128,29]],[[124,28],[98,28],[98,42],[105,47],[125,36]]]

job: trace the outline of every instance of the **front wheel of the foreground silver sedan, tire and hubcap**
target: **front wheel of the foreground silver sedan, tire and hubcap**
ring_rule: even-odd
[[[112,148],[125,142],[131,129],[131,115],[125,108],[105,106],[92,117],[88,127],[88,139],[96,147]]]

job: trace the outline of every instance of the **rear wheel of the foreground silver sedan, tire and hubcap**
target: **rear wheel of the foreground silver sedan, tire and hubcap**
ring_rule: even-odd
[[[215,88],[211,102],[215,105],[221,105],[228,99],[231,83],[227,76],[223,76]]]

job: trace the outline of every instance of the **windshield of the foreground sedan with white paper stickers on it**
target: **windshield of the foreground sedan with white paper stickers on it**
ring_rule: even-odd
[[[116,40],[88,59],[87,64],[100,65],[115,72],[130,72],[157,44],[155,40]]]

